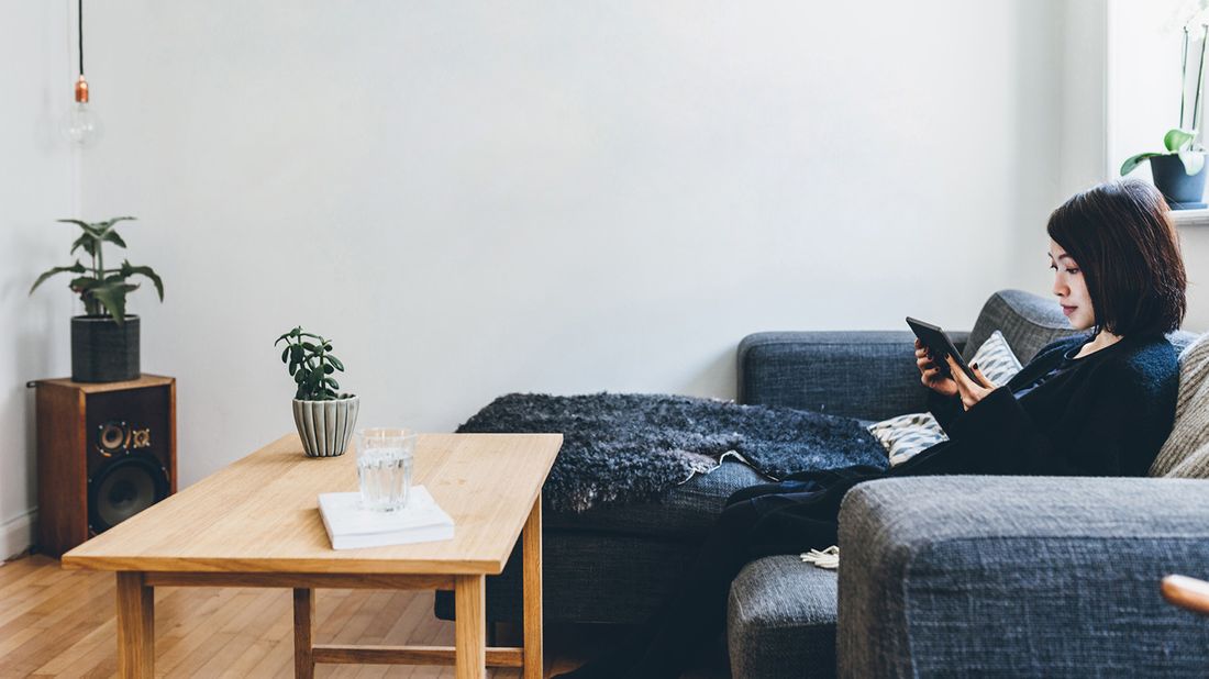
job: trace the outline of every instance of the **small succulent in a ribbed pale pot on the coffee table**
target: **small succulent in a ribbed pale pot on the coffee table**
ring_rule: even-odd
[[[302,326],[277,338],[285,342],[282,362],[289,366],[297,390],[294,394],[294,424],[302,439],[302,451],[312,458],[345,453],[357,424],[360,399],[341,394],[332,377],[345,364],[331,354],[331,341],[306,332]]]

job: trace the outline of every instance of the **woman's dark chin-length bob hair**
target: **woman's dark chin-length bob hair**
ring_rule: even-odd
[[[1149,184],[1101,184],[1062,204],[1046,231],[1083,271],[1095,330],[1122,337],[1178,330],[1187,277],[1170,209]]]

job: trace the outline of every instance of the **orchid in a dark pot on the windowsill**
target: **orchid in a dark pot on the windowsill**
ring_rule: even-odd
[[[1199,16],[1193,17],[1196,19]],[[1121,176],[1133,172],[1143,162],[1150,161],[1150,174],[1155,187],[1163,193],[1172,209],[1203,208],[1205,195],[1205,149],[1197,141],[1197,124],[1201,115],[1201,86],[1204,82],[1205,45],[1209,43],[1209,24],[1199,29],[1201,59],[1196,66],[1196,87],[1192,95],[1192,117],[1185,121],[1185,101],[1188,83],[1188,25],[1184,27],[1184,58],[1180,64],[1180,126],[1163,135],[1164,151],[1150,151],[1130,156],[1121,164]]]

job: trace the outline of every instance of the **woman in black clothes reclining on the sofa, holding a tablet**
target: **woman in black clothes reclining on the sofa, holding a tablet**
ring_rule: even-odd
[[[725,620],[730,581],[750,561],[837,541],[839,501],[861,481],[933,474],[1144,476],[1172,430],[1176,350],[1164,333],[1186,308],[1168,208],[1149,185],[1121,181],[1049,216],[1053,292],[1086,333],[1041,349],[1011,382],[944,377],[915,344],[930,407],[949,434],[890,471],[854,466],[745,488],[706,538],[682,590],[623,649],[568,678],[675,678]],[[951,359],[949,359],[951,362]]]

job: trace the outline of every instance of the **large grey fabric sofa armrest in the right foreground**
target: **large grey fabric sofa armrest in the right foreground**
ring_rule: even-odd
[[[933,476],[840,509],[840,677],[1202,677],[1209,481]]]

